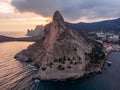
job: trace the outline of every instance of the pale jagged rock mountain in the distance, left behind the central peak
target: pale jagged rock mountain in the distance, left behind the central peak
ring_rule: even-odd
[[[34,30],[29,30],[28,29],[26,36],[42,35],[43,34],[43,30],[44,30],[44,26],[43,25],[37,25]]]

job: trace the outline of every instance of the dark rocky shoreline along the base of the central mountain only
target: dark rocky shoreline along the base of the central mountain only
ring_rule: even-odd
[[[39,75],[37,74],[37,75],[34,75],[33,77],[32,77],[32,80],[40,80],[40,81],[55,81],[55,82],[60,82],[60,81],[71,81],[71,80],[77,80],[77,79],[81,79],[81,78],[86,78],[86,77],[90,77],[90,76],[92,76],[92,75],[95,75],[95,74],[100,74],[100,73],[102,73],[103,72],[103,70],[104,70],[104,65],[105,65],[105,61],[106,60],[103,60],[102,62],[100,62],[99,64],[97,64],[97,65],[94,65],[94,66],[91,66],[91,65],[93,65],[93,64],[89,64],[86,68],[89,68],[89,69],[86,69],[85,71],[84,71],[84,74],[83,74],[83,76],[81,76],[81,77],[79,77],[79,76],[73,76],[73,77],[67,77],[67,78],[62,78],[62,79],[59,79],[59,80],[57,80],[57,79],[41,79],[41,78],[39,78]],[[38,71],[39,71],[39,69],[38,69]]]

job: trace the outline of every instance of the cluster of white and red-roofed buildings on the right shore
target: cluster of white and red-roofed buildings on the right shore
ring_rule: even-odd
[[[120,41],[120,35],[112,32],[96,32],[96,36],[99,38],[98,41],[103,44],[103,47],[108,50],[120,50],[120,45],[113,42]]]

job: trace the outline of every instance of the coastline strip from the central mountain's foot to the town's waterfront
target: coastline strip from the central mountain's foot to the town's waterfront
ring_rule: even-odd
[[[62,80],[41,80],[41,79],[39,79],[39,77],[37,77],[37,76],[33,76],[33,80],[35,80],[35,79],[39,79],[39,80],[41,80],[41,81],[56,81],[56,82],[59,82],[59,81],[71,81],[71,80],[78,80],[78,79],[82,79],[82,78],[89,78],[90,76],[92,76],[92,75],[96,75],[96,74],[100,74],[100,73],[102,73],[103,71],[104,71],[104,66],[105,66],[105,64],[106,64],[106,61],[108,61],[108,56],[112,53],[112,52],[119,52],[120,51],[120,48],[117,48],[117,49],[111,49],[109,52],[107,52],[106,51],[106,49],[104,49],[104,52],[105,52],[105,59],[103,59],[103,60],[101,60],[100,62],[99,62],[99,64],[97,64],[97,65],[95,65],[95,67],[94,66],[91,66],[91,65],[93,65],[93,64],[91,64],[90,66],[88,66],[88,67],[90,67],[91,68],[91,70],[85,70],[84,71],[84,75],[82,76],[82,77],[71,77],[71,78],[69,78],[69,79],[62,79]],[[88,68],[87,67],[87,68]]]

